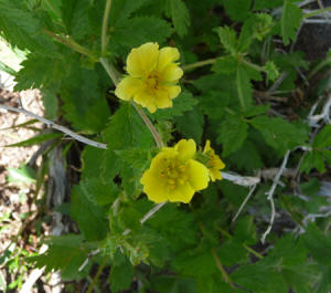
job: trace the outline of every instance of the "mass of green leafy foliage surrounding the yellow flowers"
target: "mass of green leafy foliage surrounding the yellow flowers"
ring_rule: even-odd
[[[96,291],[105,282],[111,292],[132,291],[137,284],[141,292],[158,293],[330,291],[330,219],[320,180],[330,169],[331,127],[307,125],[310,105],[329,92],[329,79],[322,73],[323,90],[309,87],[309,95],[300,95],[308,87],[301,72],[313,84],[310,75],[320,65],[310,71],[299,44],[295,52],[288,46],[302,21],[298,1],[110,2],[104,22],[106,0],[0,0],[1,38],[26,52],[18,72],[0,62],[15,76],[15,90],[40,88],[47,118],[107,145],[67,144],[57,133],[11,145],[56,139],[67,155],[70,200],[53,211],[71,217],[76,234],[52,237],[49,250],[29,258],[30,263],[46,272],[60,270],[64,280],[99,278],[95,264],[105,265]],[[275,42],[279,35],[284,45]],[[118,81],[109,79],[120,79],[130,51],[147,42],[178,48],[184,72],[173,106],[152,114],[119,101],[114,94]],[[110,66],[103,67],[104,61]],[[137,109],[164,146],[193,138],[201,151],[209,139],[226,172],[261,176],[235,221],[249,188],[226,179],[211,180],[190,205],[167,203],[143,218],[156,206],[140,179],[159,148]],[[266,192],[288,150],[289,170],[274,193],[273,229],[260,244],[270,217]],[[26,164],[8,170],[9,181],[39,186],[43,180]],[[307,224],[316,214],[314,224]],[[8,253],[0,262],[13,268]],[[88,265],[79,271],[86,259]]]

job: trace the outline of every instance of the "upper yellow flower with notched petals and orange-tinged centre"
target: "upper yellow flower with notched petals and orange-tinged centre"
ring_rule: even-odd
[[[174,63],[180,54],[175,48],[159,50],[158,43],[146,43],[132,49],[127,57],[127,72],[117,85],[117,97],[147,107],[153,113],[157,108],[172,107],[181,87],[177,85],[183,71]]]

